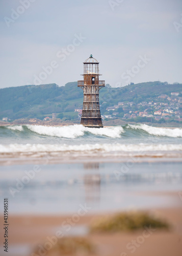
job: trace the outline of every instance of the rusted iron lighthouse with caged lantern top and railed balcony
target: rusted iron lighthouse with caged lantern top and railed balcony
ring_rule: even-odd
[[[77,81],[77,86],[84,91],[81,124],[86,127],[103,127],[100,116],[99,90],[105,87],[105,81],[99,80],[99,62],[92,54],[84,62],[84,80]]]

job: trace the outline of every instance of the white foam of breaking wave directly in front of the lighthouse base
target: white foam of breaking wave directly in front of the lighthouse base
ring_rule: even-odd
[[[102,135],[111,138],[120,138],[120,134],[124,132],[121,126],[107,127],[107,128],[89,128],[80,124],[68,125],[68,126],[43,126],[43,125],[27,125],[31,131],[47,136],[56,136],[61,138],[76,138],[83,136],[85,132],[89,132],[94,135]]]

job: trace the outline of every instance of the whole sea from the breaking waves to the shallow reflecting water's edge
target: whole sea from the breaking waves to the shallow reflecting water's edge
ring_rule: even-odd
[[[0,199],[15,215],[175,206],[181,156],[180,128],[0,126]]]

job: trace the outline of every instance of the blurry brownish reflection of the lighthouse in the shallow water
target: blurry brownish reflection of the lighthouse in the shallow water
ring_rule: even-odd
[[[99,163],[84,163],[84,169],[89,171],[89,174],[84,176],[85,199],[86,202],[99,202],[100,200],[100,175]],[[97,173],[95,173],[97,170]],[[94,174],[91,174],[91,172]]]

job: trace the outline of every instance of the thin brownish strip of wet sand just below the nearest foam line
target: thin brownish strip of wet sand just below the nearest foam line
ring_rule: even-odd
[[[40,153],[41,154],[41,153]],[[52,154],[51,153],[43,153],[42,156],[40,154],[36,156],[35,153],[30,153],[26,156],[20,155],[19,153],[4,153],[0,155],[0,166],[7,165],[25,165],[25,164],[61,164],[61,163],[87,163],[88,155],[66,155],[62,152]],[[155,163],[155,162],[181,162],[182,154],[181,152],[160,152],[161,155],[156,156],[153,153],[147,153],[145,155],[140,155],[139,153],[135,156],[135,152],[130,152],[130,154],[134,154],[135,163]],[[152,155],[153,154],[153,155]],[[92,158],[89,159],[89,162],[100,162],[100,163],[122,163],[127,162],[129,159],[128,152],[121,153],[120,156],[113,155],[110,153],[105,154],[92,154]]]

